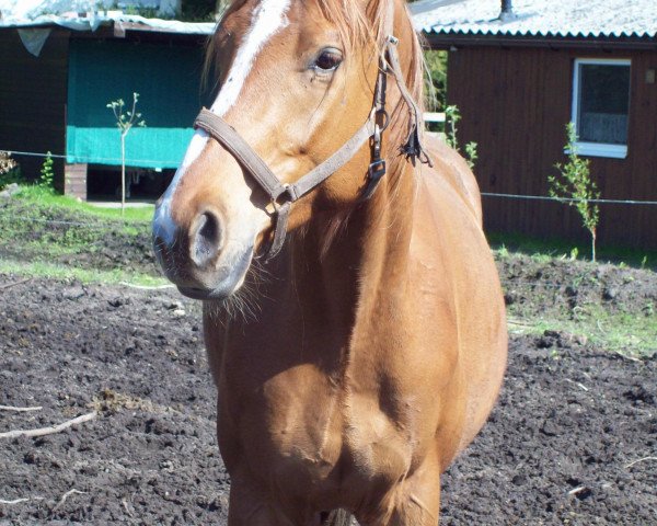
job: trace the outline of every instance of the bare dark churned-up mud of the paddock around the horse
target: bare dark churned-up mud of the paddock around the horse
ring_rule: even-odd
[[[199,307],[173,289],[0,275],[0,524],[226,524]],[[657,524],[657,361],[514,336],[445,525]],[[257,441],[257,437],[253,437]]]

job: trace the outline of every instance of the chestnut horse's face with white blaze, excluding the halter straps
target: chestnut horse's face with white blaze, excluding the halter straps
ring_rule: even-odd
[[[221,90],[211,111],[281,182],[293,182],[325,160],[367,119],[374,46],[347,48],[337,25],[314,2],[238,1],[214,38]],[[368,159],[366,147],[292,205],[289,228],[308,221],[311,210],[350,205]],[[355,167],[365,167],[357,176]],[[269,237],[267,205],[252,175],[197,130],[155,209],[154,249],[166,276],[192,297],[231,295]]]

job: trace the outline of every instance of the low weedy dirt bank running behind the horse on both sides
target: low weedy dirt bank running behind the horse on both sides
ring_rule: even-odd
[[[18,196],[0,199],[0,230],[2,259],[160,275],[149,221],[125,222]],[[649,270],[504,250],[496,260],[516,318],[595,318],[600,310],[653,317],[657,311],[657,275]]]

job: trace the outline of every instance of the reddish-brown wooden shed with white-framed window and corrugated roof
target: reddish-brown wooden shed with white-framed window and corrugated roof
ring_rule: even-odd
[[[599,241],[657,249],[654,0],[420,0],[411,9],[428,45],[449,52],[447,100],[462,114],[460,141],[479,145],[489,231],[586,239],[572,207],[540,199],[566,161],[573,122],[578,153],[613,201],[600,204]]]

